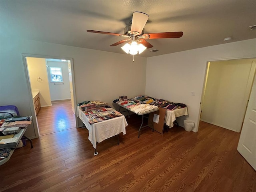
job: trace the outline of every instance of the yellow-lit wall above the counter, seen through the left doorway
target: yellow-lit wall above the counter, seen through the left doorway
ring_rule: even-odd
[[[32,90],[39,90],[41,107],[52,106],[45,59],[32,57],[27,57],[26,59],[30,85]],[[40,77],[39,81],[38,77]]]

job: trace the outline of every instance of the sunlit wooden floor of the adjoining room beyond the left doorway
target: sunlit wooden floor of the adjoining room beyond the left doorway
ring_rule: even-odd
[[[40,135],[76,127],[71,100],[52,101],[52,106],[40,108],[36,117]]]

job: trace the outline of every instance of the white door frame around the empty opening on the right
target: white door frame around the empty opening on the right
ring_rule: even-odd
[[[199,106],[199,112],[198,112],[198,120],[197,120],[197,130],[196,132],[198,132],[199,130],[199,124],[200,124],[200,118],[201,118],[201,112],[202,112],[202,101],[204,98],[204,90],[205,90],[205,86],[206,86],[206,80],[207,80],[207,75],[208,75],[208,65],[210,62],[218,62],[218,61],[230,61],[230,60],[242,60],[242,59],[255,59],[255,56],[248,56],[248,57],[233,57],[233,58],[215,58],[215,59],[209,59],[206,61],[206,68],[205,68],[205,72],[204,72],[204,81],[203,81],[203,86],[202,86],[202,93],[201,93],[201,98],[200,98],[200,106]],[[256,75],[256,71],[255,71],[255,75]],[[250,90],[252,89],[252,87],[250,88]],[[250,96],[250,93],[249,93]],[[246,110],[245,110],[246,112]],[[244,116],[245,116],[245,112],[244,112]],[[244,117],[243,117],[244,119]],[[241,129],[240,129],[241,132]]]

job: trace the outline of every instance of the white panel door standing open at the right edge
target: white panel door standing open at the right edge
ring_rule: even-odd
[[[237,150],[256,170],[256,78],[254,78]]]

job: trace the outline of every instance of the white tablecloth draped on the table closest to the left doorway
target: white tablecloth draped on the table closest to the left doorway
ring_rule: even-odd
[[[112,136],[118,135],[119,133],[126,134],[126,126],[128,126],[124,116],[116,117],[113,119],[105,120],[102,122],[89,124],[86,115],[77,107],[77,115],[85,124],[89,131],[88,139],[92,143],[94,149],[96,149],[96,142],[100,143],[103,140]]]

